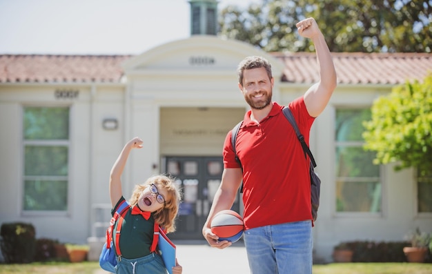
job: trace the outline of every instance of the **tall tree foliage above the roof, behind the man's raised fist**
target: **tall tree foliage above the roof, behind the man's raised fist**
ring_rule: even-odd
[[[333,52],[431,52],[432,0],[261,0],[219,14],[219,35],[267,52],[313,51],[295,23],[314,17]]]

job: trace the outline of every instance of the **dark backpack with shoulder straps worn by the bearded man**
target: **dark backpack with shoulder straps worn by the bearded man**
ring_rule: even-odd
[[[318,177],[318,175],[315,173],[313,168],[317,166],[315,163],[315,159],[313,159],[313,155],[311,153],[311,150],[309,149],[308,145],[306,144],[306,141],[304,141],[304,136],[302,133],[300,133],[300,130],[297,126],[297,123],[295,122],[293,113],[291,110],[286,107],[282,110],[284,112],[284,115],[286,119],[290,122],[291,126],[293,126],[295,130],[295,134],[297,135],[297,139],[299,139],[300,144],[302,144],[302,148],[304,151],[304,156],[306,157],[306,154],[309,155],[309,159],[311,160],[311,163],[309,164],[309,176],[311,177],[311,207],[312,207],[312,217],[313,221],[317,219],[318,215],[318,207],[320,206],[320,188],[321,188],[321,179]],[[237,134],[239,133],[240,126],[242,126],[243,121],[240,121],[239,124],[237,124],[231,133],[231,144],[233,145],[233,150],[235,153],[235,160],[242,166],[242,163],[240,162],[239,157],[237,157],[237,153],[235,152],[235,140],[237,139]],[[243,184],[242,188],[240,189],[240,193],[243,193]]]

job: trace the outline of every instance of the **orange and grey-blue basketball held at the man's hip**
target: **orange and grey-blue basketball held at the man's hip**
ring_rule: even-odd
[[[211,220],[210,229],[219,236],[219,241],[237,242],[243,235],[243,218],[229,209],[219,211]]]

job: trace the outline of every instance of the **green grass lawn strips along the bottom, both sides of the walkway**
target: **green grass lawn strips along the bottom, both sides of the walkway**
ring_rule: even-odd
[[[187,269],[183,270],[188,273]],[[19,274],[102,274],[99,262],[83,263],[32,263],[32,264],[0,264],[0,273]],[[412,263],[349,263],[322,264],[313,266],[313,274],[431,274],[432,264]],[[228,274],[228,273],[227,273]],[[237,274],[237,273],[236,273]]]

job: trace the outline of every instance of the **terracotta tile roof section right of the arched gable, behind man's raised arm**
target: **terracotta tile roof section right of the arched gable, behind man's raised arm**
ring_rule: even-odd
[[[319,80],[315,53],[272,53],[284,63],[283,81],[311,84]],[[340,84],[402,84],[432,72],[432,54],[333,52]]]

